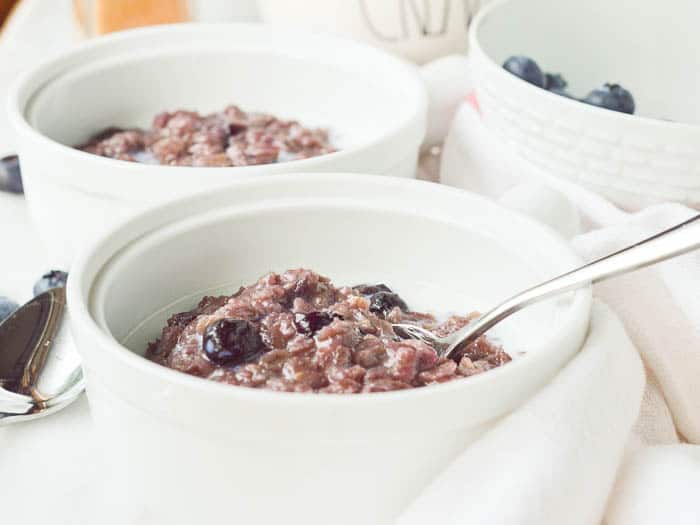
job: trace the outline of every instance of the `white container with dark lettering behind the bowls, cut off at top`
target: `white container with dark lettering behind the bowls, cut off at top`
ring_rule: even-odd
[[[345,35],[420,64],[467,49],[480,0],[258,0],[262,19]]]

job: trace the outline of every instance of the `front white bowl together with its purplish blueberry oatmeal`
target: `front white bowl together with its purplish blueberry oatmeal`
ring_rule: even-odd
[[[578,351],[590,291],[454,361],[391,324],[450,331],[579,262],[526,217],[395,177],[258,177],[139,214],[68,289],[99,443],[133,503],[115,512],[391,522]]]

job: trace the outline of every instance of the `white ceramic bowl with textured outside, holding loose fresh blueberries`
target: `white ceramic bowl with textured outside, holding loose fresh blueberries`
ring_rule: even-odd
[[[491,4],[470,30],[484,123],[525,160],[623,207],[700,205],[698,18],[694,0],[674,2],[673,9],[651,0]],[[579,97],[619,82],[632,91],[637,114],[528,84],[501,67],[511,55],[564,74]]]

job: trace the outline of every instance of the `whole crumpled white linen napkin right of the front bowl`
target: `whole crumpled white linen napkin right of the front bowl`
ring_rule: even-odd
[[[442,182],[502,198],[568,236],[578,224],[571,211],[579,213],[587,231],[572,244],[588,260],[697,213],[676,204],[641,203],[637,213],[625,213],[528,165],[482,125],[465,68],[464,57],[447,57],[423,70],[431,93],[429,138],[438,143],[447,134]],[[542,184],[548,188],[544,194]],[[552,209],[558,213],[548,216]],[[700,523],[699,284],[700,254],[693,253],[595,286],[595,296],[620,317],[633,346],[611,328],[617,325],[612,314],[596,306],[581,355],[438,476],[400,523],[419,523],[436,513],[441,519],[433,523],[594,524],[601,517],[607,525]],[[594,360],[591,355],[629,348],[637,349],[646,369],[632,428],[625,416],[628,403],[639,400],[634,367],[619,356],[603,365],[599,357],[587,381],[576,383]],[[546,424],[542,414],[551,415]],[[625,440],[623,459],[615,447]],[[615,471],[614,488],[601,496]]]

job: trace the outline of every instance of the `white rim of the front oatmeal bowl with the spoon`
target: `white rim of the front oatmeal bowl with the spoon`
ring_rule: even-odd
[[[430,191],[444,195],[462,195],[473,201],[480,201],[490,208],[500,209],[503,213],[512,216],[520,223],[526,223],[528,228],[537,231],[539,236],[546,236],[552,243],[558,244],[563,252],[570,255],[572,261],[580,261],[580,257],[566,243],[563,238],[560,238],[551,228],[537,222],[536,220],[523,215],[517,211],[505,208],[498,203],[474,194],[460,188],[454,188],[435,184],[427,181],[415,179],[401,179],[395,177],[381,177],[377,175],[366,175],[356,173],[291,173],[291,174],[276,174],[268,177],[258,177],[236,181],[229,184],[225,189],[239,188],[241,185],[253,187],[265,187],[275,185],[278,181],[288,180],[289,177],[296,177],[298,182],[302,180],[311,181],[323,180],[332,177],[334,183],[355,183],[371,182],[383,186],[383,189],[394,190],[401,187],[419,187],[423,191]],[[149,220],[153,220],[158,214],[172,211],[177,212],[178,208],[185,206],[187,203],[204,200],[208,195],[220,192],[221,188],[211,191],[199,192],[195,195],[182,197],[176,200],[169,201],[163,205],[142,211],[138,215],[132,216],[121,221],[117,226],[109,232],[104,233],[92,243],[91,246],[84,248],[81,254],[76,259],[71,269],[72,278],[69,279],[67,286],[67,296],[69,311],[71,314],[71,325],[73,331],[76,331],[75,326],[80,325],[82,331],[87,334],[91,340],[95,341],[92,345],[96,351],[108,352],[110,358],[116,359],[125,368],[137,371],[146,376],[150,376],[153,380],[161,380],[164,383],[191,388],[202,393],[224,396],[227,399],[237,399],[241,401],[251,401],[261,403],[263,405],[280,405],[281,403],[289,407],[306,406],[310,399],[312,405],[319,408],[345,407],[345,406],[366,406],[383,405],[385,403],[395,403],[401,400],[411,401],[414,399],[425,399],[428,396],[435,394],[451,395],[456,391],[469,390],[470,388],[478,388],[483,383],[493,381],[495,378],[503,378],[511,376],[512,380],[517,381],[519,374],[527,372],[527,367],[538,357],[542,359],[542,353],[535,352],[528,354],[518,359],[513,360],[506,366],[498,367],[483,374],[468,378],[468,381],[448,381],[446,383],[430,385],[429,388],[410,388],[391,392],[373,392],[359,393],[352,395],[323,395],[316,393],[299,393],[299,392],[276,392],[267,389],[256,389],[246,387],[233,387],[232,385],[209,381],[205,378],[195,377],[186,373],[172,370],[148,359],[141,355],[137,355],[132,350],[124,347],[116,339],[108,334],[93,316],[93,308],[89,304],[91,301],[92,290],[95,284],[99,281],[99,275],[102,269],[109,264],[111,260],[118,257],[120,251],[132,242],[138,240],[143,235],[147,235],[154,230],[153,227],[145,226]],[[185,216],[182,216],[183,218]],[[155,230],[158,230],[156,227]],[[562,252],[562,253],[563,253]],[[97,263],[96,261],[99,261]],[[90,276],[89,282],[86,280],[86,275]],[[589,316],[591,311],[591,288],[583,287],[573,292],[574,298],[571,306],[572,311],[578,316],[584,317],[584,324],[588,326]],[[577,352],[580,351],[580,348]],[[100,377],[100,372],[93,372],[93,375]]]

